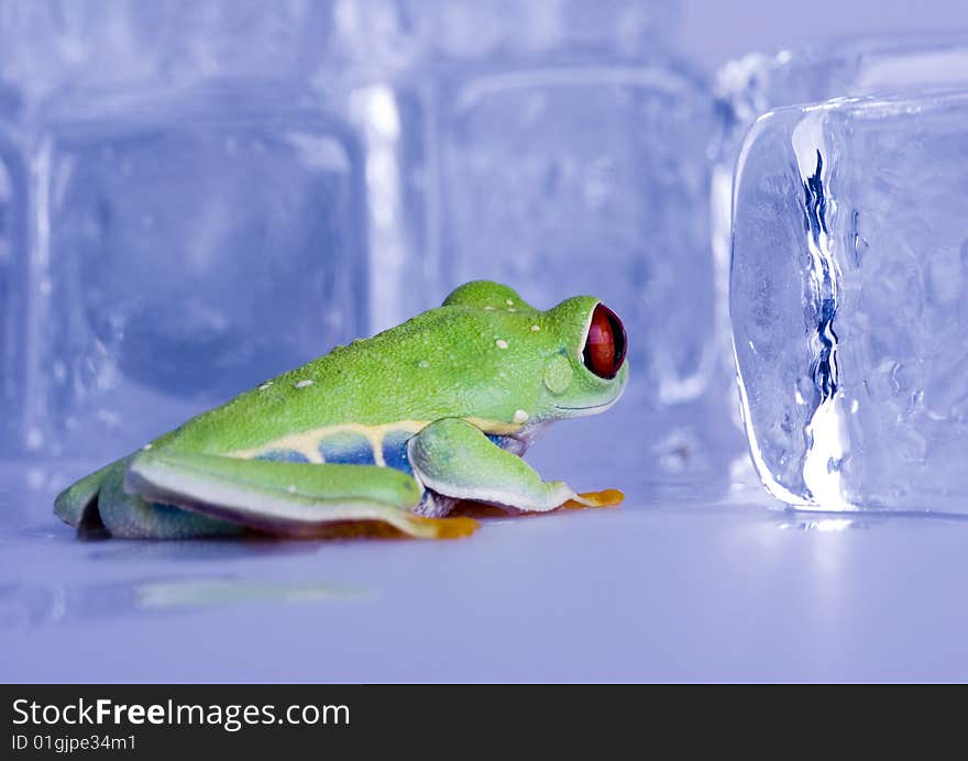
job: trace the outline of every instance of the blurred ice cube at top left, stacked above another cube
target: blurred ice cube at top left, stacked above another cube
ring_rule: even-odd
[[[0,0],[0,77],[31,97],[77,86],[308,79],[351,57],[349,0]],[[362,22],[389,13],[367,0]],[[359,15],[359,14],[358,14]],[[361,26],[358,23],[358,26]],[[374,43],[386,43],[386,40]],[[343,43],[348,43],[344,45]],[[375,44],[377,53],[385,44]]]

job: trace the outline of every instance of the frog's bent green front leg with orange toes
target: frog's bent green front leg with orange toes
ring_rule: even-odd
[[[558,507],[606,507],[623,499],[615,489],[575,494],[564,482],[542,481],[519,456],[457,418],[430,423],[410,439],[407,453],[424,486],[452,500],[547,512]]]

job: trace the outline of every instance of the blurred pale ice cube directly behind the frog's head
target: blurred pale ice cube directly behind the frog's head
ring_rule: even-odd
[[[576,65],[455,76],[438,102],[442,289],[497,279],[546,308],[598,296],[640,348],[644,399],[700,396],[714,364],[708,92],[672,68]]]

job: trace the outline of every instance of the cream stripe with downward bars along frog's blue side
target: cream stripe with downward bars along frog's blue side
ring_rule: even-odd
[[[503,422],[501,420],[482,420],[481,418],[464,418],[469,423],[479,428],[484,433],[493,435],[514,435],[522,428],[522,423]],[[326,439],[337,433],[359,433],[364,437],[373,450],[373,462],[380,467],[386,466],[386,460],[383,456],[383,440],[387,433],[396,431],[406,431],[407,433],[419,433],[431,420],[397,420],[380,426],[364,426],[359,422],[339,423],[336,426],[326,426],[324,428],[316,428],[301,433],[290,433],[275,441],[267,442],[261,446],[252,449],[235,450],[228,452],[227,456],[240,457],[244,460],[253,460],[255,457],[268,454],[273,451],[284,450],[301,454],[310,463],[322,464],[326,459],[322,456],[320,445]]]

